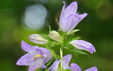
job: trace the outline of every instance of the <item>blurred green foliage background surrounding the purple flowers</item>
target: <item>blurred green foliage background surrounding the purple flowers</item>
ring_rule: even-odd
[[[26,66],[17,66],[17,60],[24,55],[21,41],[31,45],[30,34],[48,34],[48,26],[57,30],[55,19],[59,19],[63,0],[0,0],[0,71],[28,71]],[[64,0],[69,5],[75,0]],[[84,55],[73,55],[71,62],[77,63],[82,70],[96,66],[98,71],[113,71],[113,0],[76,0],[78,12],[88,13],[77,29],[76,35],[91,42],[96,53],[91,58]],[[25,24],[25,11],[28,6],[43,5],[47,16],[44,27],[33,29]],[[40,10],[39,10],[40,11]],[[39,19],[40,16],[35,18]],[[40,24],[37,22],[37,24]],[[38,26],[37,26],[38,28]],[[56,48],[57,49],[57,48]],[[66,52],[66,51],[65,51]],[[69,52],[70,53],[70,52]],[[68,51],[64,54],[69,54]]]

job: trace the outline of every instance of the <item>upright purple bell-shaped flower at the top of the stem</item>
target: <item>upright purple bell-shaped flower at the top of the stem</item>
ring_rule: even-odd
[[[87,16],[87,13],[78,14],[77,13],[77,2],[72,2],[67,8],[65,8],[65,2],[60,15],[59,26],[63,32],[69,33],[72,31],[76,25]]]

